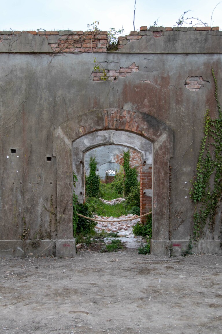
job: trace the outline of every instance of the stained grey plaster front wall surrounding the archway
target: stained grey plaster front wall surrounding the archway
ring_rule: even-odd
[[[195,175],[206,109],[216,115],[211,66],[222,87],[222,32],[166,31],[158,38],[147,33],[116,52],[93,55],[90,51],[51,54],[45,39],[45,44],[38,44],[41,49],[32,44],[26,50],[23,45],[31,43],[29,35],[16,39],[14,53],[0,43],[0,239],[19,240],[24,231],[26,239],[56,238],[52,132],[86,112],[119,108],[150,115],[173,131],[171,232],[172,239],[188,240],[193,214],[189,180]],[[117,80],[94,81],[94,57],[107,70],[135,63],[138,71]],[[188,77],[200,76],[204,87],[186,88]],[[184,222],[175,228],[178,213]],[[218,228],[219,217],[211,238],[218,238]]]

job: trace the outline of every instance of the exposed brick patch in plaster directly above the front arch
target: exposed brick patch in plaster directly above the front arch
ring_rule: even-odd
[[[128,67],[120,67],[120,69],[109,69],[109,70],[106,69],[105,70],[105,72],[107,73],[106,80],[117,80],[118,77],[126,77],[138,71],[139,71],[139,66],[136,66],[136,63],[132,63],[132,65]],[[104,73],[98,70],[96,72],[92,72],[91,74],[93,81],[103,81],[101,80],[101,76],[104,76]]]

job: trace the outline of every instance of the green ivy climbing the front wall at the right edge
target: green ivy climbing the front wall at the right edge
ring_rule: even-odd
[[[211,233],[214,231],[215,218],[222,198],[222,112],[213,68],[212,75],[215,83],[218,118],[212,119],[207,110],[204,117],[204,137],[196,176],[191,181],[190,197],[195,203],[194,240],[204,236],[203,230],[206,222],[209,224],[209,231]]]

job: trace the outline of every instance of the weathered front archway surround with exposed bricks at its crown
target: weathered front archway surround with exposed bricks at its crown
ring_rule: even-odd
[[[120,109],[94,110],[68,120],[53,131],[53,156],[57,166],[58,239],[72,239],[72,143],[103,130],[127,131],[153,144],[153,239],[151,252],[166,254],[168,244],[169,160],[173,156],[173,131],[155,118]],[[89,144],[90,146],[90,144]],[[81,170],[81,161],[77,168]]]

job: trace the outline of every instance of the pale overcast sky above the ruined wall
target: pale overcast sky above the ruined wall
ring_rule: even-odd
[[[123,26],[124,34],[133,29],[135,0],[10,0],[1,4],[0,30],[87,30],[87,24],[99,21],[101,30]],[[198,17],[210,25],[211,14],[219,1],[209,0],[136,0],[135,29],[143,25],[173,27],[179,16]],[[216,7],[211,26],[222,29],[222,2]],[[184,25],[187,26],[187,25]],[[200,26],[200,25],[199,25]]]

